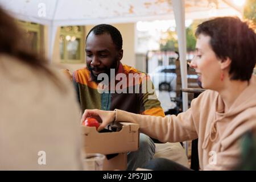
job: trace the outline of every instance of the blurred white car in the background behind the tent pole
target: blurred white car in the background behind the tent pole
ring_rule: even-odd
[[[188,72],[191,73],[191,72]],[[149,74],[156,90],[166,90],[168,92],[176,91],[177,87],[177,73],[176,65],[159,66],[154,72]],[[196,73],[188,74],[188,85],[189,87],[196,87],[198,76]],[[179,78],[181,79],[181,78]]]

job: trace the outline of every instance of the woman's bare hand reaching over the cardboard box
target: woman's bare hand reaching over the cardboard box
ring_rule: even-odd
[[[81,123],[85,121],[86,118],[93,117],[98,118],[102,121],[101,125],[98,127],[98,131],[104,129],[109,123],[112,123],[115,119],[115,111],[106,111],[98,109],[86,109],[84,114],[82,114]]]

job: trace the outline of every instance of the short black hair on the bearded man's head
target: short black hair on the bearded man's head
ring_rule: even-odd
[[[113,43],[117,47],[117,50],[121,50],[123,46],[123,39],[122,35],[119,32],[117,28],[110,24],[98,24],[97,26],[94,26],[88,33],[93,32],[94,35],[102,35],[102,34],[109,34],[113,40]],[[88,38],[88,35],[86,36],[86,40]]]

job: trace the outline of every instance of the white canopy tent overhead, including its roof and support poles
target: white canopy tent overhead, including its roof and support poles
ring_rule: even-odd
[[[182,88],[187,88],[185,15],[198,19],[242,13],[230,0],[0,0],[0,5],[20,20],[48,26],[50,59],[59,26],[175,18]],[[187,109],[188,96],[183,93],[183,110]]]

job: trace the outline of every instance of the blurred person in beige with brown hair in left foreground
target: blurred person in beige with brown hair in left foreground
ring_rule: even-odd
[[[71,82],[27,48],[1,7],[0,27],[0,170],[81,169]]]

